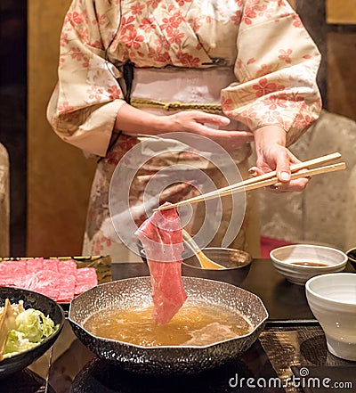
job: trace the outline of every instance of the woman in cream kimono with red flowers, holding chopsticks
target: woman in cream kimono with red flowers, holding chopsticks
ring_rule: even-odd
[[[307,179],[290,181],[289,166],[298,160],[287,146],[319,116],[319,63],[318,49],[287,0],[74,0],[61,32],[59,83],[47,117],[64,141],[101,157],[84,255],[132,258],[105,228],[111,176],[142,135],[207,137],[231,154],[243,177],[254,142],[250,173],[277,170],[279,186],[271,192],[303,190]],[[181,160],[214,178],[202,160],[181,156],[167,152],[140,168],[131,184],[133,206],[142,205],[152,175]],[[172,184],[165,196],[174,202],[194,194],[190,184]],[[255,216],[247,196],[231,247],[258,257]],[[137,225],[145,218],[136,217]],[[225,206],[213,245],[221,244],[230,218]]]

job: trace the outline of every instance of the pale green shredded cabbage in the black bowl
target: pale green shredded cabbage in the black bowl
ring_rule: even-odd
[[[12,305],[16,310],[16,329],[12,329],[7,337],[4,358],[11,357],[36,347],[44,339],[58,329],[53,320],[34,308],[24,309],[20,305]]]

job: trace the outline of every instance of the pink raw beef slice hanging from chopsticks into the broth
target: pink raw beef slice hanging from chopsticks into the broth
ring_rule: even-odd
[[[156,211],[136,235],[150,267],[153,317],[166,324],[187,299],[182,285],[182,225],[176,209]]]

